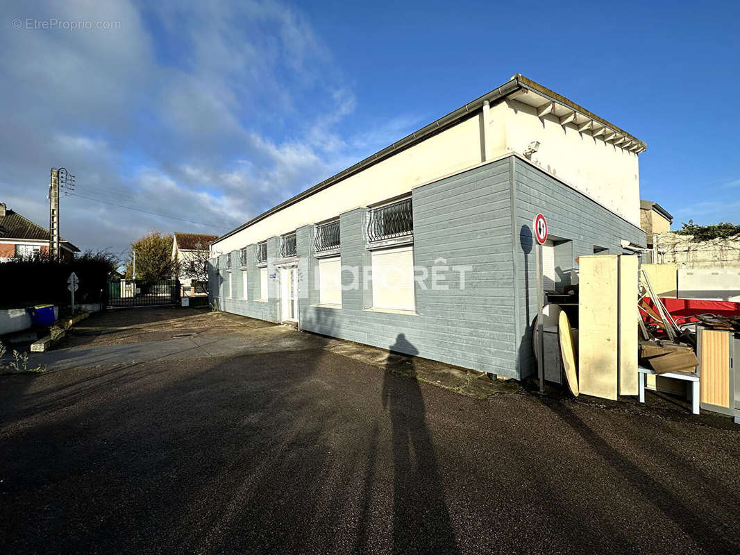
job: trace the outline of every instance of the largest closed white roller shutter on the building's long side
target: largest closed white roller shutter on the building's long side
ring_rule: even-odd
[[[372,304],[376,309],[416,309],[414,247],[373,251]]]

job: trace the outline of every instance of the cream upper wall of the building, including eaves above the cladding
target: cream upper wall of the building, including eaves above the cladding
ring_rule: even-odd
[[[500,90],[508,93],[494,95]],[[212,244],[212,254],[380,203],[511,152],[527,155],[532,141],[539,141],[528,156],[534,164],[639,227],[637,154],[645,144],[521,75],[489,95],[490,109],[479,98],[464,107],[465,119],[226,234]]]

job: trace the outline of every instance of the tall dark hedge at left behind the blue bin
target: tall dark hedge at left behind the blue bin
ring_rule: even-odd
[[[68,305],[67,278],[72,272],[79,278],[75,303],[98,303],[117,262],[109,253],[86,252],[71,261],[13,258],[0,263],[0,308]]]

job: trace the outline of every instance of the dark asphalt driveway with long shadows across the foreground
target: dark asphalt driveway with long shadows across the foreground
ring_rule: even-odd
[[[474,400],[248,328],[222,334],[280,332],[262,351],[0,376],[0,551],[740,551],[735,428]],[[278,349],[283,333],[303,338]]]

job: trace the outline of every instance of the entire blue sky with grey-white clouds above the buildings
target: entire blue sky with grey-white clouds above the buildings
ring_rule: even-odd
[[[0,16],[0,201],[45,224],[49,168],[67,166],[62,235],[82,248],[225,232],[514,73],[647,142],[642,198],[676,223],[740,223],[735,2],[52,1]],[[27,27],[54,19],[119,23]]]

